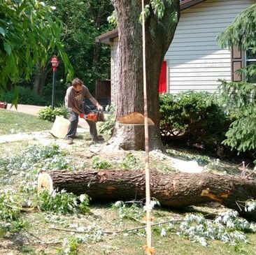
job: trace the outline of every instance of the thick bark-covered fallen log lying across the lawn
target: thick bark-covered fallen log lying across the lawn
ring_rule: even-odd
[[[87,194],[92,201],[129,201],[145,198],[145,174],[132,170],[41,171],[38,191],[65,189]],[[256,220],[256,212],[246,212],[245,202],[256,198],[256,181],[233,175],[210,173],[150,173],[151,197],[162,206],[180,208],[216,201]]]

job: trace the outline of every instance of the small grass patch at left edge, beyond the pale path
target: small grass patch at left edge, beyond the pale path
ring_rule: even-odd
[[[0,136],[49,130],[52,122],[22,112],[0,109]]]

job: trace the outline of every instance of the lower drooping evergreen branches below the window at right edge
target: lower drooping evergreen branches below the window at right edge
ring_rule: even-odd
[[[255,152],[256,86],[248,82],[222,80],[220,104],[226,105],[229,114],[236,117],[227,131],[227,139],[223,143],[238,152]]]

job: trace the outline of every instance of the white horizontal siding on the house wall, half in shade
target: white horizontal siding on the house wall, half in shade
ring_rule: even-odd
[[[234,17],[256,0],[207,0],[183,10],[165,60],[169,66],[169,92],[214,92],[218,79],[231,80],[231,55],[216,37]]]

